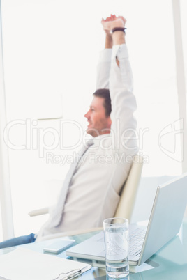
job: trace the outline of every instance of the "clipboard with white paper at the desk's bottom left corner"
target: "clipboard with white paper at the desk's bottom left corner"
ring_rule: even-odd
[[[0,256],[0,279],[67,279],[91,269],[91,265],[38,253],[22,247]],[[70,279],[70,278],[68,278]]]

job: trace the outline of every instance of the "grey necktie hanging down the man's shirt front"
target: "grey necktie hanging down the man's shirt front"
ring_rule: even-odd
[[[81,157],[84,155],[84,153],[87,152],[88,148],[93,145],[93,139],[90,139],[87,143],[86,146],[83,146],[82,149],[80,150],[80,152],[77,154],[77,157],[71,165],[70,165],[70,169],[66,175],[66,178],[63,182],[63,187],[61,189],[61,193],[59,195],[59,201],[57,203],[56,208],[54,208],[54,211],[52,212],[52,217],[51,217],[51,221],[50,221],[50,228],[54,228],[56,226],[59,226],[60,222],[61,222],[61,218],[63,215],[63,208],[66,202],[66,196],[68,194],[68,187],[70,185],[70,181],[73,178],[73,175],[76,173],[77,171],[77,166],[80,162]]]

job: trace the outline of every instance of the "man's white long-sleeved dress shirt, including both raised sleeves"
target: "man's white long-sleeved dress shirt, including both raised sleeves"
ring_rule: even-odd
[[[61,224],[51,228],[49,219],[37,240],[52,233],[103,226],[117,208],[121,186],[137,153],[136,101],[126,44],[100,52],[96,87],[110,89],[111,132],[93,138],[70,182]]]

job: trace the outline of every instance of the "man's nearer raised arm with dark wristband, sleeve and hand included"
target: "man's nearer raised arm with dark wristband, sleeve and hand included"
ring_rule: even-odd
[[[119,150],[126,154],[137,153],[136,109],[133,95],[133,74],[128,60],[125,34],[126,20],[115,17],[103,20],[103,28],[112,33],[112,59],[110,65],[110,98],[112,103],[111,132],[119,138]],[[112,32],[113,31],[113,32]]]

